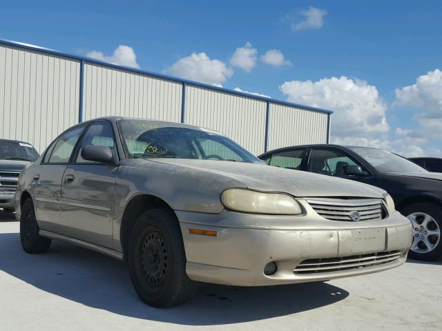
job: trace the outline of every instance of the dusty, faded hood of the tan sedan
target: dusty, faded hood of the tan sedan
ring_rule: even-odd
[[[371,197],[382,198],[384,190],[372,185],[273,167],[265,164],[195,159],[150,159],[196,171],[229,177],[252,190],[287,192],[295,197]]]

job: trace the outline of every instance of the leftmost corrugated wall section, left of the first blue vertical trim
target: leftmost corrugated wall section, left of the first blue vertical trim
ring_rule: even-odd
[[[0,45],[0,138],[42,152],[78,110],[79,61]]]

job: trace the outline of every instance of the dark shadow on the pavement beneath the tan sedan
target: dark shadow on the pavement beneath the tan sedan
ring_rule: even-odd
[[[201,284],[189,302],[156,309],[138,299],[126,265],[102,254],[53,242],[46,254],[26,254],[19,234],[0,234],[0,270],[51,294],[115,314],[178,323],[219,325],[312,310],[349,293],[328,283],[243,288]]]

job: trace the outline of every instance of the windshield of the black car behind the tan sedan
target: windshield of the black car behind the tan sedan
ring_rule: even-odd
[[[378,172],[427,172],[416,163],[396,154],[375,148],[350,147],[350,150],[359,154],[370,163]]]

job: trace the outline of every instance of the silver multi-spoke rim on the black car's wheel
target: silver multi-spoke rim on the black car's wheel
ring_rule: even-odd
[[[413,212],[407,216],[413,225],[413,252],[424,254],[432,252],[441,240],[441,228],[436,220],[425,212]]]

